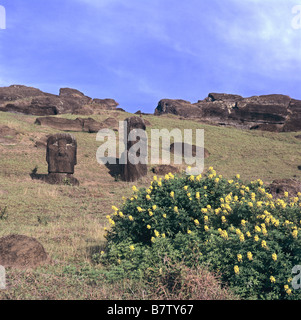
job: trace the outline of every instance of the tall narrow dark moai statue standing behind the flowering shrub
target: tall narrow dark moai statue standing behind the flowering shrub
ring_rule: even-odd
[[[145,122],[140,117],[124,121],[125,152],[121,157],[121,179],[133,182],[147,175],[147,136]]]

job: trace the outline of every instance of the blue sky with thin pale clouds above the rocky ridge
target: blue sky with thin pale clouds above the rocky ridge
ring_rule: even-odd
[[[0,0],[0,86],[76,88],[152,113],[209,92],[301,99],[301,0]]]

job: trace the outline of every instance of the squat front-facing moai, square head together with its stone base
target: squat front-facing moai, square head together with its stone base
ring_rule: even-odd
[[[70,183],[78,185],[73,177],[77,163],[76,139],[66,133],[58,133],[47,140],[46,161],[48,162],[49,183]]]

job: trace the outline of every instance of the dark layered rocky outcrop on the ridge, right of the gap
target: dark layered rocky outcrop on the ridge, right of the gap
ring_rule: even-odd
[[[301,131],[301,101],[280,94],[243,98],[210,93],[197,103],[163,99],[155,110],[155,115],[162,114],[253,130]]]

